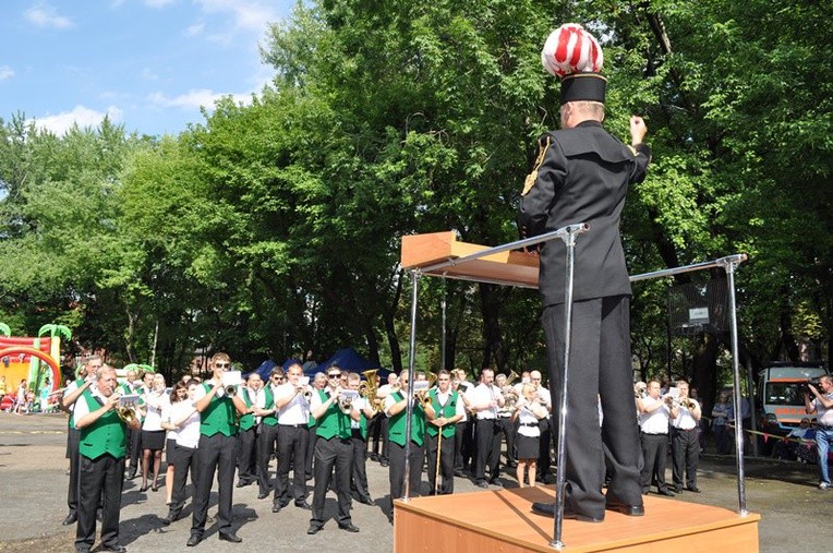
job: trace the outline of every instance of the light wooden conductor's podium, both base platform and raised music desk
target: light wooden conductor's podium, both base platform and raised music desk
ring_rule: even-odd
[[[402,268],[421,275],[538,288],[539,259],[457,240],[455,232],[402,238]],[[485,253],[487,250],[492,250]],[[415,285],[414,285],[415,286]],[[415,289],[415,288],[414,288]],[[411,347],[414,347],[412,336]],[[643,497],[645,515],[608,512],[602,524],[564,520],[568,552],[711,553],[758,551],[760,515],[655,495]],[[555,502],[553,486],[505,489],[414,497],[394,502],[394,551],[437,553],[556,551],[554,521],[532,513],[533,502]]]

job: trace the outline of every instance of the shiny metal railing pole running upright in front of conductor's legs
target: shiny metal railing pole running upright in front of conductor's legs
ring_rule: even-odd
[[[567,383],[570,366],[570,341],[572,334],[572,274],[576,264],[576,233],[570,231],[564,239],[567,247],[567,279],[565,282],[564,298],[564,369],[562,374],[562,393],[558,398],[558,453],[556,456],[556,484],[555,484],[555,529],[553,542],[555,549],[564,549],[562,530],[564,527],[564,494],[566,488],[565,443],[567,440]]]

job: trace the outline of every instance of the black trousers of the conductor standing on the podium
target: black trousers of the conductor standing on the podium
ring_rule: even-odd
[[[555,405],[560,405],[564,315],[564,304],[548,305],[542,315]],[[575,302],[571,338],[564,444],[565,507],[584,516],[603,517],[605,468],[611,476],[608,497],[628,505],[642,504],[630,359],[630,298],[615,296]],[[601,438],[600,399],[604,412]]]

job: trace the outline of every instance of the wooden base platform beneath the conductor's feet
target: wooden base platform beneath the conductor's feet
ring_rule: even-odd
[[[556,551],[553,519],[533,502],[555,501],[553,486],[516,488],[394,502],[394,551],[520,553]],[[645,515],[607,512],[602,524],[565,520],[566,552],[757,552],[760,515],[644,496]]]

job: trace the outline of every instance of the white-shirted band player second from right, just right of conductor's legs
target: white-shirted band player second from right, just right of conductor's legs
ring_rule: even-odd
[[[640,483],[642,493],[648,493],[653,481],[660,495],[672,496],[674,493],[665,485],[665,456],[668,450],[668,420],[676,419],[679,412],[674,404],[660,397],[660,383],[651,381],[648,383],[648,397],[637,399],[644,458]]]

